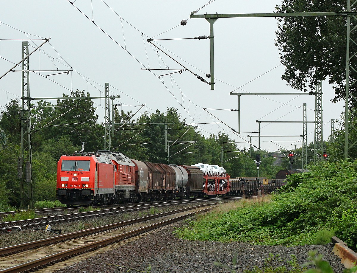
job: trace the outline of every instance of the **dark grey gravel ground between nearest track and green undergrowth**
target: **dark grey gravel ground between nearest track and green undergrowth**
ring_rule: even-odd
[[[282,260],[291,260],[295,255],[298,263],[307,262],[307,253],[317,250],[324,255],[324,260],[333,267],[334,272],[343,272],[340,259],[332,253],[333,244],[307,245],[299,247],[263,246],[246,243],[197,242],[175,238],[175,227],[160,229],[140,240],[127,244],[123,248],[108,251],[96,257],[71,265],[56,273],[91,273],[91,272],[150,272],[150,273],[188,273],[188,272],[243,272],[254,265],[261,267],[269,254],[279,255]],[[233,257],[237,256],[236,265]],[[222,265],[217,266],[215,262]],[[286,265],[286,262],[274,264]],[[287,266],[288,267],[288,266]],[[131,270],[130,270],[131,269]]]

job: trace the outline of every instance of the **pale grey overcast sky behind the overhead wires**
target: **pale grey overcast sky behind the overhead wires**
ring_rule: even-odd
[[[31,73],[31,97],[61,97],[63,93],[69,94],[72,89],[84,89],[91,96],[104,96],[104,84],[109,82],[111,96],[121,96],[116,103],[146,104],[139,114],[144,111],[165,111],[167,107],[177,107],[187,123],[211,123],[219,121],[202,108],[237,109],[238,98],[229,93],[271,69],[235,92],[297,92],[281,79],[283,66],[280,65],[279,52],[274,45],[277,29],[277,20],[274,18],[221,18],[216,21],[214,91],[210,90],[208,84],[202,83],[187,71],[162,76],[159,79],[159,70],[152,71],[153,73],[142,70],[141,68],[145,67],[182,68],[165,54],[157,54],[157,50],[146,40],[208,36],[209,24],[205,19],[190,19],[185,26],[180,25],[182,19],[188,19],[191,11],[197,10],[207,2],[208,0],[74,1],[74,5],[86,14],[89,20],[67,0],[1,1],[0,39],[38,39],[23,32],[51,37],[49,43],[41,48],[41,52],[37,51],[31,55],[30,69],[61,70],[72,67],[75,70],[70,75],[61,74],[48,78],[46,72],[41,73],[42,76]],[[273,12],[275,5],[281,4],[281,1],[260,0],[254,3],[255,5],[252,1],[215,0],[197,14],[269,13]],[[114,41],[92,23],[92,20]],[[42,42],[29,40],[29,43],[35,46]],[[206,73],[210,72],[208,39],[165,40],[156,43],[194,73],[205,77]],[[0,56],[11,62],[19,62],[21,48],[21,40],[1,40]],[[32,49],[30,46],[31,51]],[[1,75],[13,66],[2,58]],[[343,103],[330,102],[334,93],[327,81],[323,82],[323,92],[323,139],[327,140],[330,135],[330,121],[340,120]],[[10,72],[0,79],[0,109],[4,109],[11,98],[20,96],[20,72]],[[104,100],[96,100],[95,103],[98,107],[99,121],[102,122]],[[241,131],[244,133],[241,133],[241,137],[249,140],[248,132],[258,130],[256,120],[301,121],[303,103],[307,103],[307,120],[313,121],[315,96],[242,96]],[[125,112],[136,112],[139,107],[121,106],[121,109]],[[236,111],[208,111],[229,127],[238,130]],[[241,141],[229,127],[223,124],[207,124],[200,125],[200,130],[204,135],[217,135],[219,131],[225,131],[235,141]],[[308,142],[313,141],[313,124],[308,124],[307,131]],[[261,134],[301,135],[302,125],[262,123]],[[290,149],[293,147],[290,144],[299,140],[300,137],[264,137],[261,138],[261,148],[276,150],[278,146],[274,143],[278,143]],[[252,142],[257,146],[257,138],[253,138]],[[249,146],[247,143],[237,145]]]

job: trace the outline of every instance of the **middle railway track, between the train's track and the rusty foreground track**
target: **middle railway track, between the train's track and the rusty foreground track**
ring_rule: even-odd
[[[236,200],[237,198],[220,198],[220,202],[228,202],[232,200]],[[239,199],[239,198],[238,198]],[[211,199],[212,200],[212,199]],[[213,199],[217,201],[217,199]],[[97,216],[108,216],[111,214],[117,213],[128,213],[133,211],[145,210],[150,208],[160,208],[165,206],[172,206],[172,205],[182,205],[182,204],[194,204],[197,202],[202,201],[210,201],[210,199],[202,200],[202,199],[195,199],[195,200],[180,200],[180,201],[170,201],[170,202],[163,202],[159,204],[150,204],[150,205],[131,205],[126,207],[119,207],[119,208],[111,208],[111,209],[104,209],[104,210],[96,210],[96,211],[88,211],[83,213],[72,213],[72,214],[63,214],[57,216],[49,216],[49,217],[41,217],[35,219],[28,219],[28,220],[21,220],[21,221],[12,221],[12,222],[4,222],[0,223],[0,233],[11,231],[14,226],[20,226],[21,229],[31,229],[31,228],[40,228],[47,224],[56,224],[66,221],[76,221],[91,217]]]

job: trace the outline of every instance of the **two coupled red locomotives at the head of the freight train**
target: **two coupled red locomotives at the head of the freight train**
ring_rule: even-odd
[[[105,150],[63,155],[57,165],[57,199],[67,206],[135,201],[134,166],[122,153]]]

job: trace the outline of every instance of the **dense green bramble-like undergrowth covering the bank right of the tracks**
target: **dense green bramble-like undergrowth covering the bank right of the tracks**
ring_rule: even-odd
[[[326,243],[333,232],[356,249],[357,163],[336,162],[290,175],[270,202],[190,221],[176,235],[191,240],[241,241],[267,245]]]

